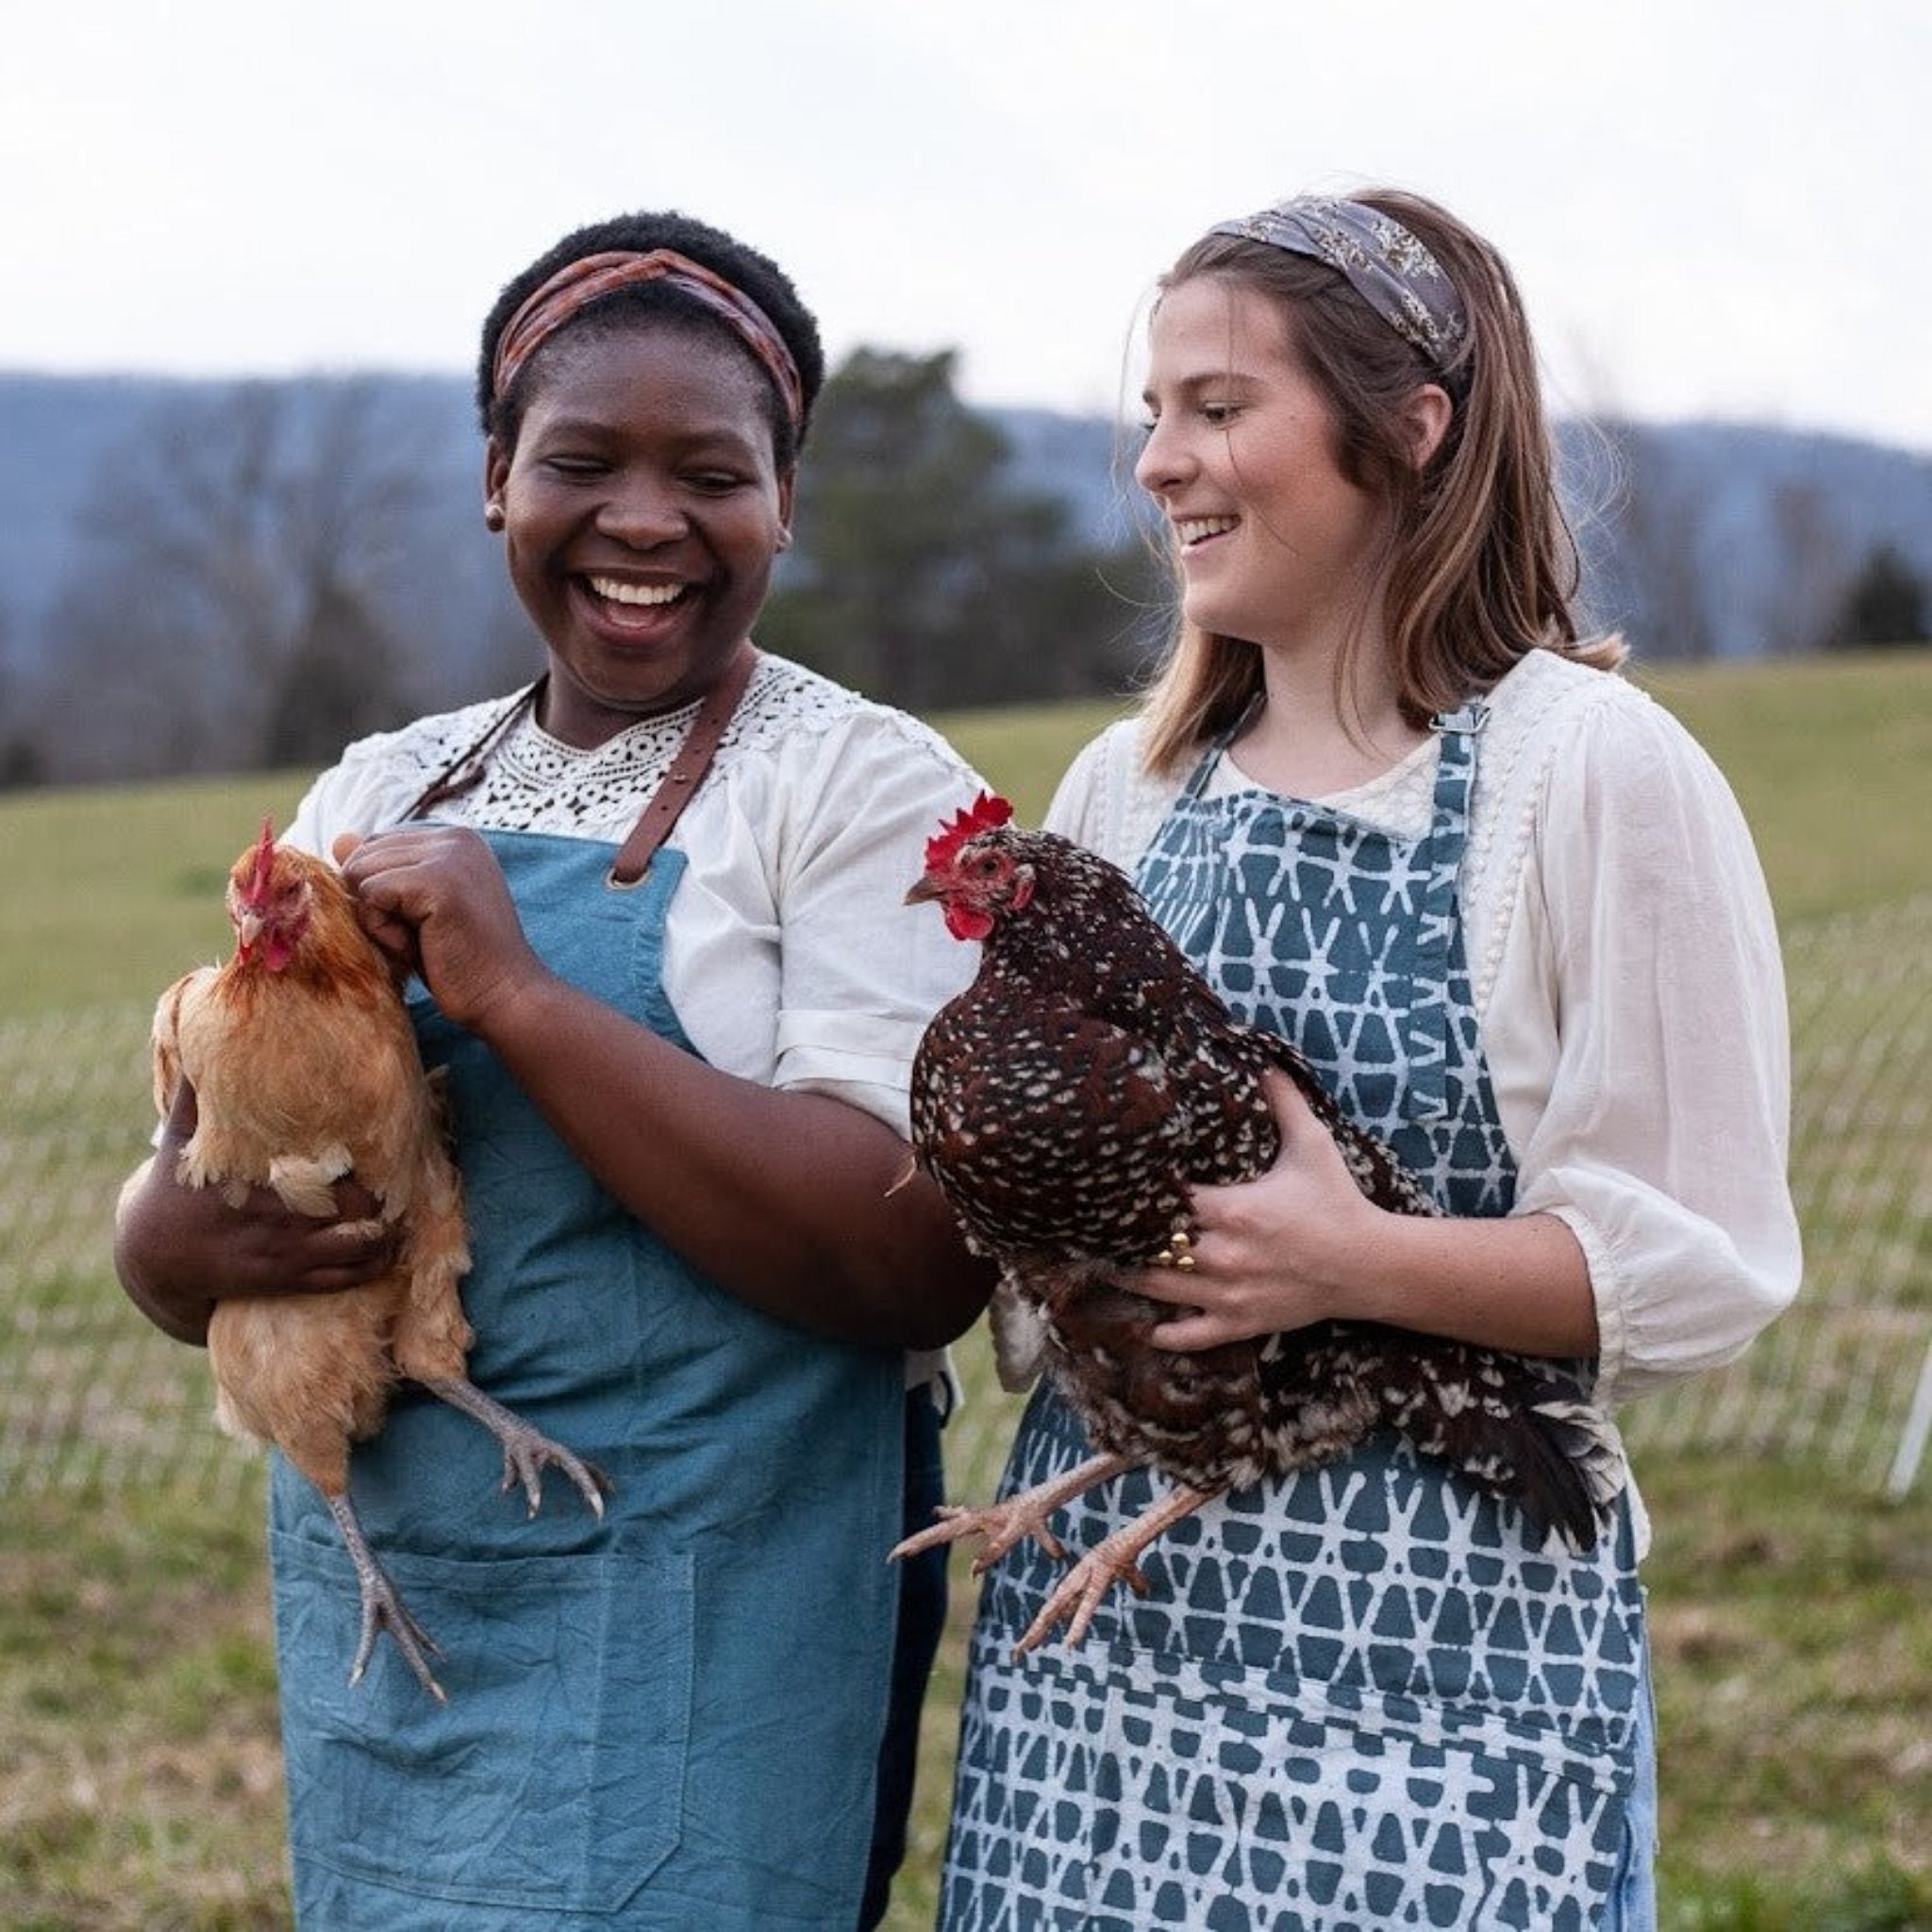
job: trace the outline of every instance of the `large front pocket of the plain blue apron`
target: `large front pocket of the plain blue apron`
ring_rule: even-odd
[[[448,1704],[379,1636],[348,1681],[348,1555],[270,1532],[298,1861],[435,1899],[616,1911],[678,1843],[692,1559],[452,1561],[379,1549]]]

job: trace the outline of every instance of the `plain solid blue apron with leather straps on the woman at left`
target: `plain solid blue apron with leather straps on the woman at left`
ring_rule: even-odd
[[[487,835],[572,983],[690,1049],[663,991],[684,856],[634,891],[612,848]],[[346,1683],[357,1592],[315,1492],[276,1466],[270,1538],[305,1932],[850,1932],[873,1824],[904,1366],[699,1277],[576,1161],[502,1063],[423,999],[477,1256],[475,1383],[599,1464],[498,1492],[479,1424],[408,1385],[352,1493],[442,1648],[448,1706],[383,1638]]]

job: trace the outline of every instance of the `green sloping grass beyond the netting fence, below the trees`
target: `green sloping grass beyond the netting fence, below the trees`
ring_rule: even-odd
[[[1640,668],[1706,744],[1750,817],[1783,920],[1924,887],[1932,651]],[[960,711],[935,723],[1028,823],[1074,750],[1121,705]],[[220,883],[263,815],[288,821],[307,773],[0,800],[8,920],[0,1014],[153,999],[218,958]]]

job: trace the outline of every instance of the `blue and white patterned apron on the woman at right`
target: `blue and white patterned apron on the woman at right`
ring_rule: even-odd
[[[1140,866],[1235,1010],[1293,1039],[1449,1213],[1509,1211],[1515,1167],[1457,912],[1482,709],[1439,721],[1430,831],[1208,798],[1202,759]],[[1036,1391],[1007,1490],[1088,1443]],[[1090,1549],[1165,1480],[1065,1519]],[[1142,1559],[1082,1648],[1012,1646],[1057,1577],[989,1575],[974,1631],[945,1932],[1381,1926],[1584,1932],[1623,1851],[1642,1677],[1627,1517],[1586,1555],[1376,1437],[1208,1505]]]

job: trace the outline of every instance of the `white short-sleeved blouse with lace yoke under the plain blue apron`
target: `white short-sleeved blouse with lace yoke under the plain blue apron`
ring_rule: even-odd
[[[506,699],[350,746],[303,798],[290,838],[328,852],[394,825],[489,728]],[[591,752],[527,713],[483,779],[433,815],[493,831],[620,844],[696,705]],[[670,833],[688,871],[665,929],[665,991],[713,1066],[810,1088],[908,1132],[912,1053],[978,964],[931,908],[906,906],[925,840],[980,786],[918,721],[763,657],[709,777]]]

